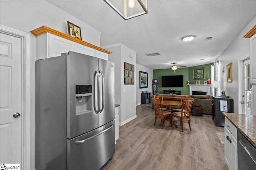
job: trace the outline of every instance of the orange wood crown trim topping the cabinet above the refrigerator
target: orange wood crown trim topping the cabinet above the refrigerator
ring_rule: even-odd
[[[75,38],[75,37],[72,37],[72,36],[70,36],[70,35],[64,34],[64,33],[60,32],[60,31],[55,30],[55,29],[46,27],[46,26],[44,26],[44,25],[43,25],[42,27],[36,28],[36,29],[34,29],[34,30],[30,31],[30,32],[31,32],[33,35],[35,35],[35,36],[41,35],[41,34],[43,34],[43,33],[51,33],[51,34],[53,34],[53,35],[57,35],[57,36],[59,36],[59,37],[62,37],[62,38],[64,38],[64,39],[68,39],[68,40],[73,41],[73,42],[76,42],[76,43],[78,43],[78,44],[85,45],[85,46],[90,47],[90,48],[92,48],[92,49],[96,49],[96,50],[101,51],[101,52],[103,52],[103,53],[107,53],[107,54],[112,53],[111,51],[102,49],[102,48],[100,48],[100,47],[98,47],[98,46],[96,46],[96,45],[87,43],[87,42],[85,42],[85,41],[82,41],[82,40],[77,39],[77,38]]]

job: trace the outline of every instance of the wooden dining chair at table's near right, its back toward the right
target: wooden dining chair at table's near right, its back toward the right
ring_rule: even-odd
[[[182,106],[181,106],[181,111],[171,113],[171,127],[172,127],[172,123],[173,123],[173,118],[176,117],[176,118],[180,119],[180,126],[181,126],[182,132],[183,132],[183,121],[188,121],[189,129],[191,131],[190,112],[191,112],[193,102],[194,102],[194,100],[183,100]]]

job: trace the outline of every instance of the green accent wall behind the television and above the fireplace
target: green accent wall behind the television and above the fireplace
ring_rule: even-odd
[[[196,84],[196,80],[193,78],[193,70],[204,68],[204,79],[200,80],[200,84],[204,84],[204,80],[207,80],[207,73],[209,72],[209,78],[211,76],[211,65],[212,64],[204,64],[200,66],[188,67],[188,68],[179,68],[177,70],[168,69],[157,69],[153,70],[153,79],[158,80],[158,93],[164,94],[164,90],[180,90],[181,95],[189,94],[189,86],[187,85],[188,80],[194,84]],[[183,75],[183,87],[162,87],[162,76],[174,76],[174,75]],[[210,78],[211,79],[211,78]]]

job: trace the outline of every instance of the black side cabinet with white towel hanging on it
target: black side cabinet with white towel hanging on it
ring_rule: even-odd
[[[228,106],[228,113],[234,113],[233,99],[222,97],[222,96],[212,96],[212,120],[216,126],[225,126],[225,118],[220,111],[220,101],[226,100]]]

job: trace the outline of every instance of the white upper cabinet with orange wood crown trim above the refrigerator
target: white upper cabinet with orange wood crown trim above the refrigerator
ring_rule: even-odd
[[[102,49],[46,26],[39,27],[30,32],[37,36],[37,59],[57,57],[62,53],[74,51],[108,60],[108,54],[111,53],[108,50]]]

